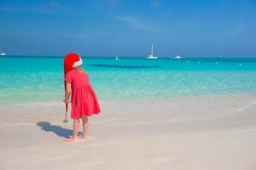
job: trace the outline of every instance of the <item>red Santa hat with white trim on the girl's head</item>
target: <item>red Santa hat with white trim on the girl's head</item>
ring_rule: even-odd
[[[70,53],[67,54],[64,59],[64,75],[66,77],[67,72],[71,71],[74,67],[80,66],[83,64],[82,59],[78,54]]]

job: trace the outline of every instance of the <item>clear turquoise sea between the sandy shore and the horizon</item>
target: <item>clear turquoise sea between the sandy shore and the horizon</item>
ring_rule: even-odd
[[[99,99],[255,93],[256,59],[82,57]],[[63,57],[0,58],[0,104],[63,99]]]

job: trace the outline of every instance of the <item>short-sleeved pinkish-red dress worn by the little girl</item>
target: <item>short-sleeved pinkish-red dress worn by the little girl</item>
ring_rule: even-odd
[[[71,118],[77,119],[101,112],[96,94],[85,72],[76,69],[68,71],[65,81],[71,82],[72,85]]]

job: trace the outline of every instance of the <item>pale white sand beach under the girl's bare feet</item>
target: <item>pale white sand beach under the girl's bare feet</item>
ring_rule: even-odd
[[[100,103],[73,144],[61,102],[0,105],[0,169],[256,169],[255,94]]]

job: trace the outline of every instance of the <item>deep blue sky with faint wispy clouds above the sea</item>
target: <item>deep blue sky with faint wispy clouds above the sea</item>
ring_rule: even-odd
[[[0,0],[0,53],[256,57],[256,0]]]

